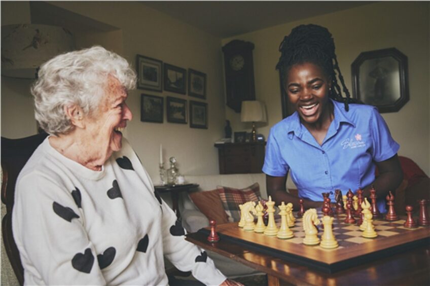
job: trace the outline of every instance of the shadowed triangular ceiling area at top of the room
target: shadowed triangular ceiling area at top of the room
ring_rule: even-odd
[[[375,2],[143,1],[141,3],[219,38],[228,38]]]

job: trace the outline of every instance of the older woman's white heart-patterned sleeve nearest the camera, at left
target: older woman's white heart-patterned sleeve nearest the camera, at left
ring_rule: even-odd
[[[37,171],[20,178],[13,233],[26,275],[48,285],[106,284],[71,192]]]

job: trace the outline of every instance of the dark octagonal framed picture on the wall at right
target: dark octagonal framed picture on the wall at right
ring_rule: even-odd
[[[354,96],[380,113],[397,112],[408,102],[408,58],[396,48],[361,53],[351,71]]]

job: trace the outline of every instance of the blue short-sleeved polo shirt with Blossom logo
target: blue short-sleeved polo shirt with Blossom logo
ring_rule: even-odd
[[[331,100],[331,99],[330,99]],[[374,106],[334,104],[334,119],[321,146],[300,123],[297,112],[275,124],[267,139],[263,172],[285,176],[290,171],[299,197],[322,201],[321,193],[342,194],[370,185],[375,180],[375,163],[396,155],[400,146]],[[380,203],[379,203],[379,199]],[[385,212],[385,198],[378,208]]]

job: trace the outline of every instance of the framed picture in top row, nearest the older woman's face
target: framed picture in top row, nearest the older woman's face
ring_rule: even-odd
[[[161,60],[136,55],[137,88],[161,91],[162,66]]]

